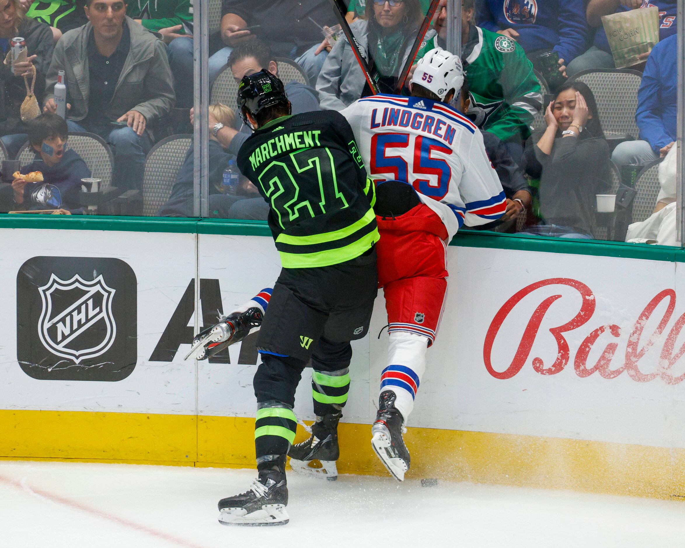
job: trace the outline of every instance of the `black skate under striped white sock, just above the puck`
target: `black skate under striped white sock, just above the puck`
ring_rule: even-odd
[[[409,451],[402,434],[406,432],[402,414],[395,409],[395,393],[385,390],[378,399],[376,421],[371,427],[371,446],[378,458],[395,479],[404,481],[409,470]]]

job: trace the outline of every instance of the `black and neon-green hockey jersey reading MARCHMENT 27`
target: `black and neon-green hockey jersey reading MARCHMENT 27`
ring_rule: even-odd
[[[339,112],[265,124],[240,147],[238,168],[271,206],[269,227],[284,268],[339,264],[379,240],[373,182]]]

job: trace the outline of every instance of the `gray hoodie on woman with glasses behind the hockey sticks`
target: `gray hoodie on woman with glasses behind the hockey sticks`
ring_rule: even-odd
[[[358,19],[349,25],[352,34],[360,45],[360,53],[369,59],[369,23]],[[432,38],[434,30],[426,34],[425,40]],[[412,37],[413,38],[413,37]],[[400,66],[404,66],[414,45],[408,40]],[[352,52],[347,39],[340,38],[328,54],[319,79],[316,80],[316,91],[319,92],[319,102],[322,110],[343,110],[362,96],[366,78]]]

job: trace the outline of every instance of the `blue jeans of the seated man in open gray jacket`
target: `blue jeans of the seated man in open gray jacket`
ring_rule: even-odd
[[[125,190],[142,190],[142,176],[145,173],[145,155],[152,148],[152,143],[147,133],[138,136],[130,127],[117,127],[116,129],[99,129],[81,125],[84,121],[76,123],[66,121],[69,132],[92,132],[103,138],[114,153],[114,169],[112,170],[112,186],[116,186],[122,192]]]

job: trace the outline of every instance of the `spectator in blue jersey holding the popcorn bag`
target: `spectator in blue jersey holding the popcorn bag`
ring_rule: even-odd
[[[595,27],[597,29],[595,42],[588,51],[583,53],[583,55],[580,55],[580,57],[575,58],[573,62],[566,67],[566,74],[571,77],[575,73],[589,69],[615,69],[614,56],[611,54],[606,32],[604,32],[604,27],[601,23],[602,16],[614,14],[616,12],[650,8],[652,6],[659,8],[660,40],[664,40],[664,38],[668,38],[672,34],[675,34],[677,29],[677,2],[675,0],[590,0],[586,15],[590,27]],[[647,58],[646,55],[645,58]]]

